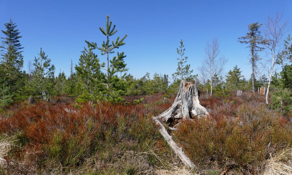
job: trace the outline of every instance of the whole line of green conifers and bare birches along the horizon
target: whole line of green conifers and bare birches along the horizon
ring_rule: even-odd
[[[89,100],[116,103],[123,101],[124,95],[173,94],[177,92],[181,80],[195,81],[198,78],[200,89],[206,91],[206,97],[229,95],[234,90],[255,92],[256,87],[265,86],[267,104],[272,102],[272,108],[282,111],[291,109],[291,38],[289,35],[283,39],[290,30],[288,22],[283,21],[282,14],[277,13],[275,17],[268,17],[264,30],[261,30],[262,24],[252,23],[248,25],[246,36],[238,38],[239,43],[246,44],[250,50],[252,72],[249,80],[241,75],[237,65],[224,74],[228,60],[221,54],[217,38],[206,43],[205,57],[197,68],[199,75],[194,75],[190,64],[187,64],[188,57],[185,56],[186,49],[181,39],[176,49],[178,67],[172,74],[173,83],[170,84],[171,78],[166,74],[155,73],[153,78],[150,78],[149,73],[142,78],[134,78],[128,74],[129,68],[124,60],[126,54],[116,52],[117,48],[125,45],[127,35],[114,38],[118,30],[109,20],[109,16],[105,28],[99,28],[105,40],[100,44],[85,41],[78,64],[73,66],[71,60],[68,77],[61,71],[55,77],[55,66],[42,48],[26,72],[23,70],[24,48],[19,41],[22,36],[17,25],[10,20],[4,24],[5,29],[1,30],[4,37],[1,38],[0,105],[4,107],[12,101],[21,101],[30,96],[45,100],[56,95],[77,97],[76,102]],[[105,62],[98,58],[98,50],[101,55],[106,56]],[[265,57],[259,54],[263,51],[266,53]],[[277,73],[277,70],[281,71]],[[272,101],[268,99],[270,90]]]

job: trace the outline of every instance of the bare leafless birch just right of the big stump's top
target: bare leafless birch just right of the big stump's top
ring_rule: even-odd
[[[211,41],[207,41],[205,48],[205,58],[202,61],[202,65],[198,67],[201,73],[202,81],[210,80],[211,90],[210,96],[213,93],[213,78],[214,75],[220,76],[223,72],[227,59],[220,55],[220,46],[217,38],[212,38]]]

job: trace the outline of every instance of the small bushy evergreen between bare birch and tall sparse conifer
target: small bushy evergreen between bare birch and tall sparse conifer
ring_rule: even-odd
[[[226,76],[226,88],[228,90],[240,90],[241,87],[241,78],[243,77],[241,75],[240,68],[234,66],[233,70],[230,70],[228,72],[228,75]]]

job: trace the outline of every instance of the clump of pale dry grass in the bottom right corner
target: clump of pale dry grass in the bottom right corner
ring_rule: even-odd
[[[291,175],[292,174],[292,148],[282,151],[280,154],[267,160],[263,175]]]

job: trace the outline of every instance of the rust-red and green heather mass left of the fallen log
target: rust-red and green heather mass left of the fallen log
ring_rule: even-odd
[[[22,148],[11,151],[11,158],[26,162],[24,167],[53,172],[53,169],[70,171],[71,167],[98,165],[100,171],[106,172],[112,168],[108,164],[117,163],[123,166],[115,172],[138,172],[159,165],[157,157],[131,157],[129,152],[158,149],[158,153],[172,154],[150,117],[143,104],[72,106],[39,102],[20,107],[11,117],[1,118],[0,132],[19,138],[18,145]],[[137,160],[141,160],[140,164]],[[140,167],[141,164],[145,167]]]

